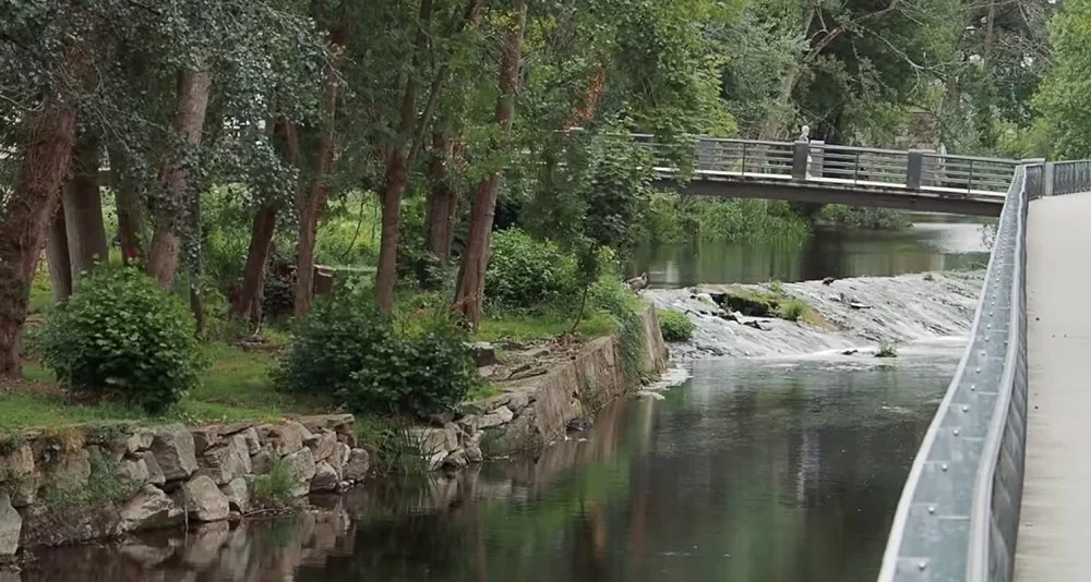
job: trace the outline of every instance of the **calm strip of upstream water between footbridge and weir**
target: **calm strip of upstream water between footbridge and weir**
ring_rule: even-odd
[[[886,277],[984,265],[988,228],[981,222],[918,221],[899,231],[820,229],[802,244],[694,241],[640,248],[632,270],[652,287]]]

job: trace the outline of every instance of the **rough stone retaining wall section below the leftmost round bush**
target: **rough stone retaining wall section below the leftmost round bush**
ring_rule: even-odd
[[[345,490],[369,469],[356,445],[350,414],[8,436],[0,442],[0,559],[21,547],[241,517],[274,462],[292,496]]]

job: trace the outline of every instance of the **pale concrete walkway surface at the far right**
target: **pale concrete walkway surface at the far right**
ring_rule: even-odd
[[[1091,577],[1091,193],[1031,202],[1018,582]],[[1059,265],[1059,266],[1058,266]]]

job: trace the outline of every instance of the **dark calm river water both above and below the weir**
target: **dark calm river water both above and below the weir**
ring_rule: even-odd
[[[678,287],[895,275],[987,258],[980,225],[837,240],[810,243],[825,248],[819,266],[806,258],[814,253],[721,245],[702,246],[695,260],[661,250],[645,268],[660,287]],[[963,311],[951,317],[967,320],[950,329],[968,326]],[[661,400],[615,402],[594,428],[535,459],[424,484],[373,483],[315,499],[327,511],[314,514],[39,551],[22,574],[0,579],[871,581],[958,362],[962,342],[946,331],[922,328],[896,359],[688,361],[690,379]]]

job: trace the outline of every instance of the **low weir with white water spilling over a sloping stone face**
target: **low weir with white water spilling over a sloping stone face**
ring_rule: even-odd
[[[825,351],[874,350],[904,343],[964,337],[973,322],[984,271],[949,271],[898,277],[860,277],[779,284],[784,295],[806,302],[830,325],[774,317],[721,317],[709,294],[770,286],[699,286],[644,293],[656,305],[682,311],[697,325],[685,343],[671,344],[674,357],[774,356]]]

